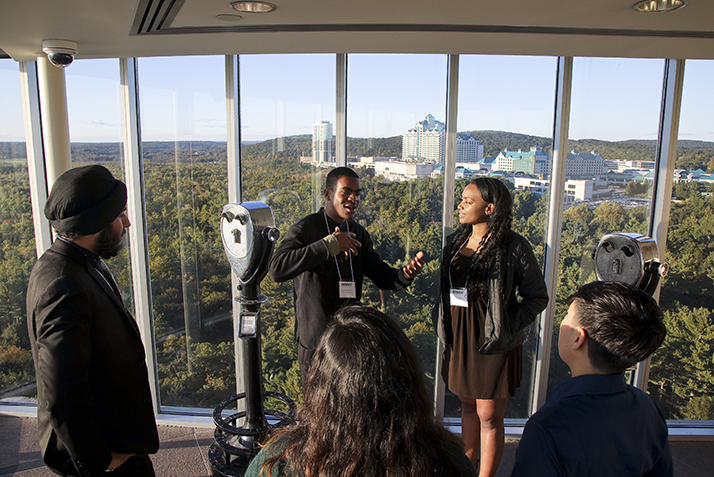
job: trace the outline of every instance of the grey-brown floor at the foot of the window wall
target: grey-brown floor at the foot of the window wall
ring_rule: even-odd
[[[208,448],[213,430],[159,426],[161,448],[152,456],[159,477],[207,477],[211,475]],[[508,439],[497,477],[507,477],[513,466],[518,442]],[[714,441],[672,441],[677,477],[714,476]],[[0,414],[0,477],[51,477],[42,464],[34,418]]]

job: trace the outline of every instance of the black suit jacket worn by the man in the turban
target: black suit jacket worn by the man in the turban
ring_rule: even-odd
[[[63,475],[104,475],[110,452],[158,450],[139,329],[79,250],[56,240],[27,289],[42,457]]]

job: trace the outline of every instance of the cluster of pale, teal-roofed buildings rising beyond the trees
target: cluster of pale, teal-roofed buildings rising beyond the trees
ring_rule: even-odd
[[[332,124],[320,121],[313,126],[312,162],[328,166],[332,157]],[[397,157],[350,157],[356,167],[369,167],[376,175],[390,181],[422,177],[438,177],[443,172],[446,127],[428,114],[413,128],[402,134],[402,159]],[[504,149],[496,157],[484,157],[484,145],[470,132],[456,135],[456,179],[483,175],[501,177],[512,182],[517,190],[528,190],[543,196],[550,189],[551,154],[539,146],[529,150]],[[304,158],[307,160],[310,158]],[[566,205],[577,202],[623,197],[631,181],[654,180],[653,161],[606,161],[595,151],[567,154],[565,197]],[[714,175],[704,171],[675,172],[675,182],[714,182]]]

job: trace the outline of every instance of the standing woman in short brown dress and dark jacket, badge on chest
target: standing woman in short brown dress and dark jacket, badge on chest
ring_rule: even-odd
[[[548,304],[531,245],[511,230],[512,204],[500,180],[472,180],[441,264],[442,377],[461,400],[461,436],[480,477],[498,469],[506,404],[523,374],[524,328]]]

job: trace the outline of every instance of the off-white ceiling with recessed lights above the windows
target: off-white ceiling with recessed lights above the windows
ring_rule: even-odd
[[[714,59],[712,0],[648,14],[632,8],[635,0],[272,0],[272,13],[217,19],[238,14],[230,3],[0,0],[0,49],[18,61],[34,60],[42,40],[54,38],[77,42],[77,58],[470,53]]]

